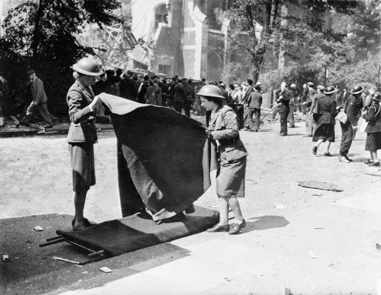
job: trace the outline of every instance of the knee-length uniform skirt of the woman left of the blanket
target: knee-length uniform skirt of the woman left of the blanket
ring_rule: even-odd
[[[73,191],[88,190],[95,184],[94,147],[88,144],[69,144]]]

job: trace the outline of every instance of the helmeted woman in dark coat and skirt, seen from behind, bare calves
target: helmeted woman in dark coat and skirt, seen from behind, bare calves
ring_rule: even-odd
[[[316,142],[312,153],[316,155],[318,147],[321,143],[327,141],[327,149],[324,156],[331,157],[329,152],[331,143],[335,142],[335,117],[336,117],[336,102],[332,95],[336,92],[333,86],[328,86],[321,93],[316,102],[316,112],[314,118],[317,120],[316,130],[312,138]]]

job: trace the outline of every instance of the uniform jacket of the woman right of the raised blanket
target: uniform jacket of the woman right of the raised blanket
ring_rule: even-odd
[[[230,107],[223,106],[216,113],[212,113],[209,128],[214,130],[212,137],[220,144],[222,165],[248,155],[239,138],[237,115]]]

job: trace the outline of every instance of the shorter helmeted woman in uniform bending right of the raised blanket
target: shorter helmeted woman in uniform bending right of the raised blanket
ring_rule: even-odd
[[[219,199],[220,222],[208,232],[238,234],[246,226],[237,197],[245,196],[246,157],[248,155],[239,138],[237,115],[228,106],[222,106],[221,90],[214,85],[203,86],[196,95],[201,105],[211,112],[206,134],[218,147],[220,167],[217,171],[216,193]],[[228,224],[228,208],[231,207],[235,223]]]

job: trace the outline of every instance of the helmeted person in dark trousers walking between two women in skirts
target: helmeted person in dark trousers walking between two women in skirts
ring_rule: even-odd
[[[361,85],[355,86],[351,89],[352,94],[347,102],[344,104],[344,112],[348,116],[348,121],[346,123],[340,122],[341,126],[341,143],[340,143],[340,154],[339,161],[343,163],[352,162],[348,157],[349,148],[353,140],[353,132],[357,130],[358,114],[363,107],[361,93],[364,91],[364,87]]]

